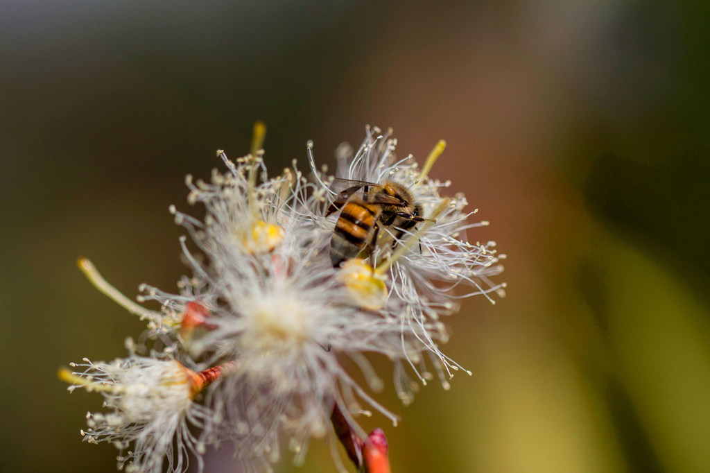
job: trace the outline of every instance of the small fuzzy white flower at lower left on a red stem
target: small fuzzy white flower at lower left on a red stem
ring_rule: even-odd
[[[60,373],[73,383],[69,391],[97,391],[109,409],[87,413],[84,441],[111,442],[121,450],[119,469],[125,466],[128,472],[162,472],[166,459],[168,472],[187,469],[187,452],[197,453],[188,424],[201,426],[212,416],[193,399],[211,380],[179,361],[136,355],[111,363],[84,358],[83,364],[71,366],[84,371]]]

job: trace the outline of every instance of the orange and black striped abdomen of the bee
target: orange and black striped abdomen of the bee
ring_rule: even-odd
[[[376,211],[359,202],[346,202],[330,239],[330,261],[340,266],[357,256],[371,237]]]

